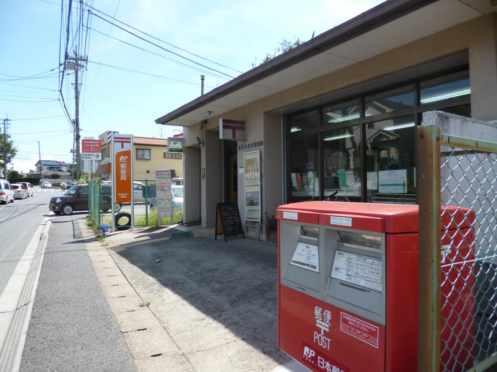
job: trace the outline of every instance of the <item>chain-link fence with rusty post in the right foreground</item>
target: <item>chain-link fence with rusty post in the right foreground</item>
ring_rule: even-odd
[[[497,143],[440,134],[428,126],[435,134],[433,157],[440,159],[438,172],[436,159],[433,162],[434,185],[438,177],[440,191],[433,190],[432,215],[441,210],[441,216],[433,218],[441,233],[432,231],[432,257],[438,255],[432,270],[432,331],[439,329],[432,355],[433,360],[439,358],[440,368],[432,364],[431,371],[495,371],[489,368],[497,363]],[[429,136],[423,130],[421,141]],[[421,197],[420,221],[425,218]],[[420,313],[420,322],[425,315]]]

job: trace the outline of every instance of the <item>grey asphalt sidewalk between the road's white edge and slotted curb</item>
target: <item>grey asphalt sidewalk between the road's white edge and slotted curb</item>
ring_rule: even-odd
[[[90,263],[79,218],[56,216],[52,223],[21,372],[136,371]]]

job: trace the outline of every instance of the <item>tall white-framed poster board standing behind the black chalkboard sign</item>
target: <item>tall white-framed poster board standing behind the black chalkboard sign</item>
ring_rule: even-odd
[[[260,152],[244,153],[245,220],[260,221]]]

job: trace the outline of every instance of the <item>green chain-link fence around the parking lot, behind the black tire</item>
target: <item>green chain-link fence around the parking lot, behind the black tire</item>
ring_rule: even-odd
[[[88,215],[97,226],[108,225],[112,228],[112,210],[110,209],[111,184],[96,180],[89,183]],[[106,194],[108,193],[108,197]],[[97,196],[100,195],[100,196]],[[155,180],[135,180],[133,183],[133,212],[134,226],[158,226],[157,197]],[[98,204],[98,205],[97,205]],[[108,205],[107,205],[108,204]],[[162,218],[161,225],[179,223],[183,219],[182,196],[180,201],[174,201],[173,221]],[[131,227],[131,203],[114,204],[116,229],[123,230]]]

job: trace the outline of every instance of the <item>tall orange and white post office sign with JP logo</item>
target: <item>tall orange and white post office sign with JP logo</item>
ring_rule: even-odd
[[[131,203],[133,193],[133,135],[114,134],[112,136],[112,159],[115,203]]]

